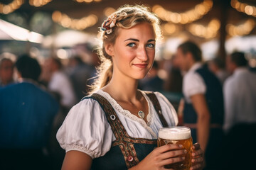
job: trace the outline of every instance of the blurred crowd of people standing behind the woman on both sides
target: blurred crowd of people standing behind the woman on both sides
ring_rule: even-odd
[[[225,61],[215,57],[203,62],[196,57],[200,49],[193,45],[179,46],[170,60],[156,60],[139,81],[139,89],[161,91],[174,105],[179,125],[196,129],[197,134],[192,135],[198,141],[203,141],[200,133],[208,134],[207,147],[202,146],[211,154],[206,152],[206,157],[222,153],[228,163],[248,162],[255,158],[255,149],[246,147],[256,142],[255,68],[248,66],[243,52],[233,52]],[[1,55],[0,169],[60,169],[65,151],[55,134],[97,76],[95,68],[100,60],[95,52],[90,57],[90,63],[80,55],[65,60],[47,57],[38,62],[28,54],[16,57],[16,61]],[[201,120],[208,122],[210,132],[201,132]],[[217,143],[218,149],[213,151]],[[228,163],[223,167],[230,169]]]

